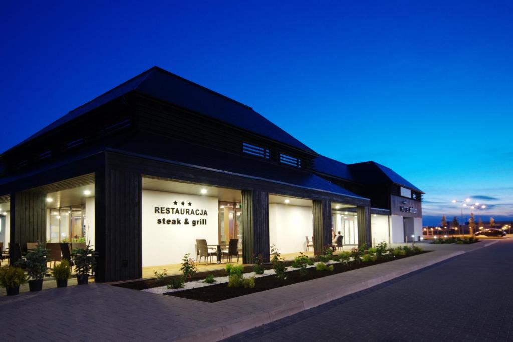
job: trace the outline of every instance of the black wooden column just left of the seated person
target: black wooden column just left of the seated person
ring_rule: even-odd
[[[313,252],[322,253],[324,246],[331,245],[331,202],[327,199],[312,200]]]

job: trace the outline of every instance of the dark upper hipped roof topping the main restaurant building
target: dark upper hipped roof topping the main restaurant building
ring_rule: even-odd
[[[156,66],[68,112],[18,145],[45,134],[131,91],[155,97],[176,106],[222,120],[230,125],[257,133],[277,142],[315,153],[251,107]]]

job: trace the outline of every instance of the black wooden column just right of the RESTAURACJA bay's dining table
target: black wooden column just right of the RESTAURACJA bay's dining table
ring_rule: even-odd
[[[262,254],[269,262],[269,196],[265,191],[242,191],[242,260],[252,264]]]

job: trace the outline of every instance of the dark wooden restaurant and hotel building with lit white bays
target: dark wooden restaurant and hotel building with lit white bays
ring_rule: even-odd
[[[239,238],[244,263],[422,235],[422,191],[315,153],[251,107],[153,67],[0,155],[4,246],[91,242],[96,281]]]

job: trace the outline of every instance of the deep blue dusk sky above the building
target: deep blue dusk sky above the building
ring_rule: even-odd
[[[453,198],[513,217],[513,3],[184,3],[2,2],[0,150],[159,65],[392,168],[426,192],[424,224]]]

